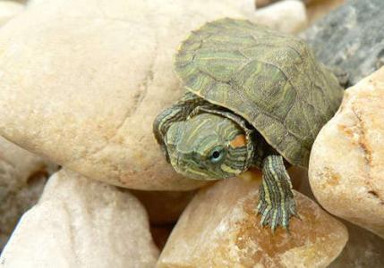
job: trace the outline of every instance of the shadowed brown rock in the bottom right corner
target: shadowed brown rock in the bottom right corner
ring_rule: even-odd
[[[345,222],[349,240],[329,268],[384,267],[384,240],[368,230]]]

